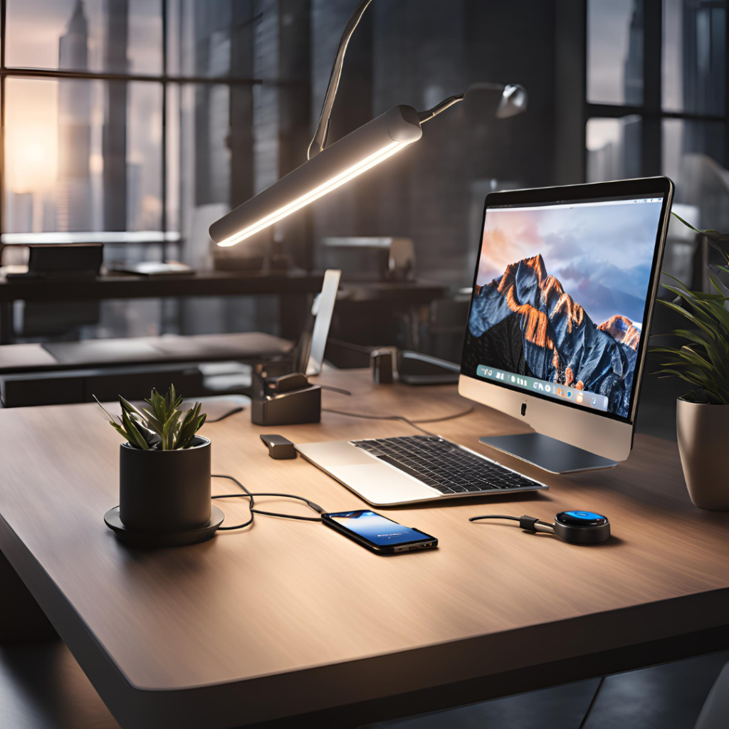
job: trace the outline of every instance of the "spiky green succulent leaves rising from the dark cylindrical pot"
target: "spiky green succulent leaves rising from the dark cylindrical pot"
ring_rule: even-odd
[[[98,402],[96,396],[94,399]],[[120,395],[121,417],[112,416],[101,402],[98,405],[109,417],[112,428],[122,434],[133,448],[143,451],[179,451],[190,448],[192,438],[207,418],[205,413],[200,415],[200,403],[196,402],[195,407],[187,410],[182,418],[182,397],[179,397],[174,385],[170,386],[164,397],[152,389],[152,394],[144,402],[147,402],[149,409],[139,410]]]

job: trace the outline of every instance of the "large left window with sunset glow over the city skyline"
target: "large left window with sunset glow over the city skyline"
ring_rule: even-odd
[[[281,89],[275,3],[1,7],[1,242],[78,233],[112,260],[198,265],[208,225],[288,171],[278,104],[297,83],[308,94],[308,78]]]

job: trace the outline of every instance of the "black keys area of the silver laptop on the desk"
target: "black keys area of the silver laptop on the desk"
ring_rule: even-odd
[[[441,494],[547,488],[437,435],[354,440],[353,443]]]

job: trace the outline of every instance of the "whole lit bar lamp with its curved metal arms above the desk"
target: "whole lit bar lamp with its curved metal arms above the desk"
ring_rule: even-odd
[[[394,106],[326,147],[332,106],[347,45],[371,1],[359,0],[344,28],[319,125],[309,145],[308,161],[214,222],[210,226],[210,237],[219,246],[235,246],[396,155],[421,138],[421,125],[424,122],[437,117],[449,106],[463,101],[467,95],[483,91],[500,92],[501,99],[496,108],[496,117],[499,119],[515,116],[526,110],[527,95],[523,87],[479,83],[470,86],[465,93],[446,98],[426,112],[417,112],[412,106]]]

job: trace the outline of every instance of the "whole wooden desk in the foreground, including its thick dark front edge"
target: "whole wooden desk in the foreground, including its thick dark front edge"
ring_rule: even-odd
[[[324,392],[330,408],[432,418],[466,405],[452,386],[378,387],[351,371],[321,379],[354,392]],[[323,418],[265,430],[299,441],[412,432]],[[488,452],[480,435],[523,426],[479,407],[431,427]],[[363,507],[303,459],[269,459],[261,430],[247,412],[206,426],[214,472],[330,510]],[[546,494],[389,510],[441,545],[393,557],[315,523],[265,517],[202,545],[129,550],[102,519],[117,503],[119,440],[92,406],[0,411],[0,443],[0,549],[122,727],[305,712],[347,727],[729,645],[729,514],[695,509],[675,445],[651,437],[636,437],[616,470],[541,475]],[[215,489],[235,490],[219,480]],[[240,499],[218,505],[231,522],[245,517]],[[566,508],[607,514],[615,538],[576,547],[467,521]]]

